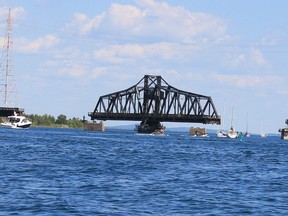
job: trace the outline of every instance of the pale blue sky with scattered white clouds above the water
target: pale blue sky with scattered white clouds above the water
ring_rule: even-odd
[[[11,59],[26,114],[87,119],[99,96],[148,74],[211,96],[224,129],[231,126],[233,104],[239,131],[285,127],[286,0],[0,0],[1,44],[8,8]]]

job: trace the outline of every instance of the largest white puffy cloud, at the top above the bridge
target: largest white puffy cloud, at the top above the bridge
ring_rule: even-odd
[[[192,42],[197,36],[216,39],[225,38],[226,22],[205,13],[193,13],[183,7],[173,7],[155,0],[136,1],[137,6],[112,4],[110,8],[92,19],[84,14],[75,14],[66,26],[81,34],[92,30],[114,34],[118,39],[162,38]]]

